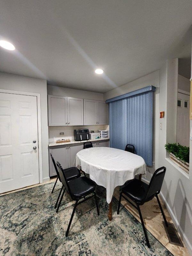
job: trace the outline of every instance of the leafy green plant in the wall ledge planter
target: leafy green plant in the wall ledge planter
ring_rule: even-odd
[[[175,155],[178,159],[189,163],[189,147],[182,146],[179,143],[168,143],[165,144],[165,149],[167,152]]]

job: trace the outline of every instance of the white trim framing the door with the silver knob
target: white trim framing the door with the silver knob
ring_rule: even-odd
[[[39,146],[39,183],[43,183],[43,167],[42,167],[42,139],[41,139],[41,95],[33,92],[19,92],[0,89],[0,92],[20,94],[37,97],[37,126],[38,126],[38,146]]]

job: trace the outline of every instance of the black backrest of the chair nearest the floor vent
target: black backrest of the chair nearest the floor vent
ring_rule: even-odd
[[[164,180],[164,176],[165,176],[165,172],[166,172],[166,168],[164,166],[158,168],[154,172],[154,174],[151,178],[151,181],[149,183],[149,186],[148,186],[148,191],[146,194],[145,201],[151,200],[156,194],[160,193],[161,187],[163,184],[163,180]]]

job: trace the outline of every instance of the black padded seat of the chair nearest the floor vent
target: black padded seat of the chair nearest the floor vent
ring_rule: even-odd
[[[140,204],[146,198],[147,189],[148,185],[145,182],[134,179],[122,188],[122,192]]]

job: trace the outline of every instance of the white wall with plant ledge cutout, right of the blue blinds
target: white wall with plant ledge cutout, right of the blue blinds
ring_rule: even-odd
[[[159,109],[165,111],[165,117],[159,119],[162,123],[162,130],[159,131],[159,167],[166,167],[162,198],[192,255],[191,164],[188,176],[168,159],[164,148],[167,142],[176,142],[178,59],[167,60],[159,74]],[[190,141],[190,152],[191,144]]]

